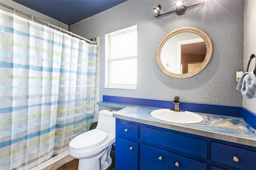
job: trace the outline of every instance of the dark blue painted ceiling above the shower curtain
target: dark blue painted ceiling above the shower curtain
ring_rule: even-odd
[[[32,10],[72,25],[127,0],[13,0]]]

